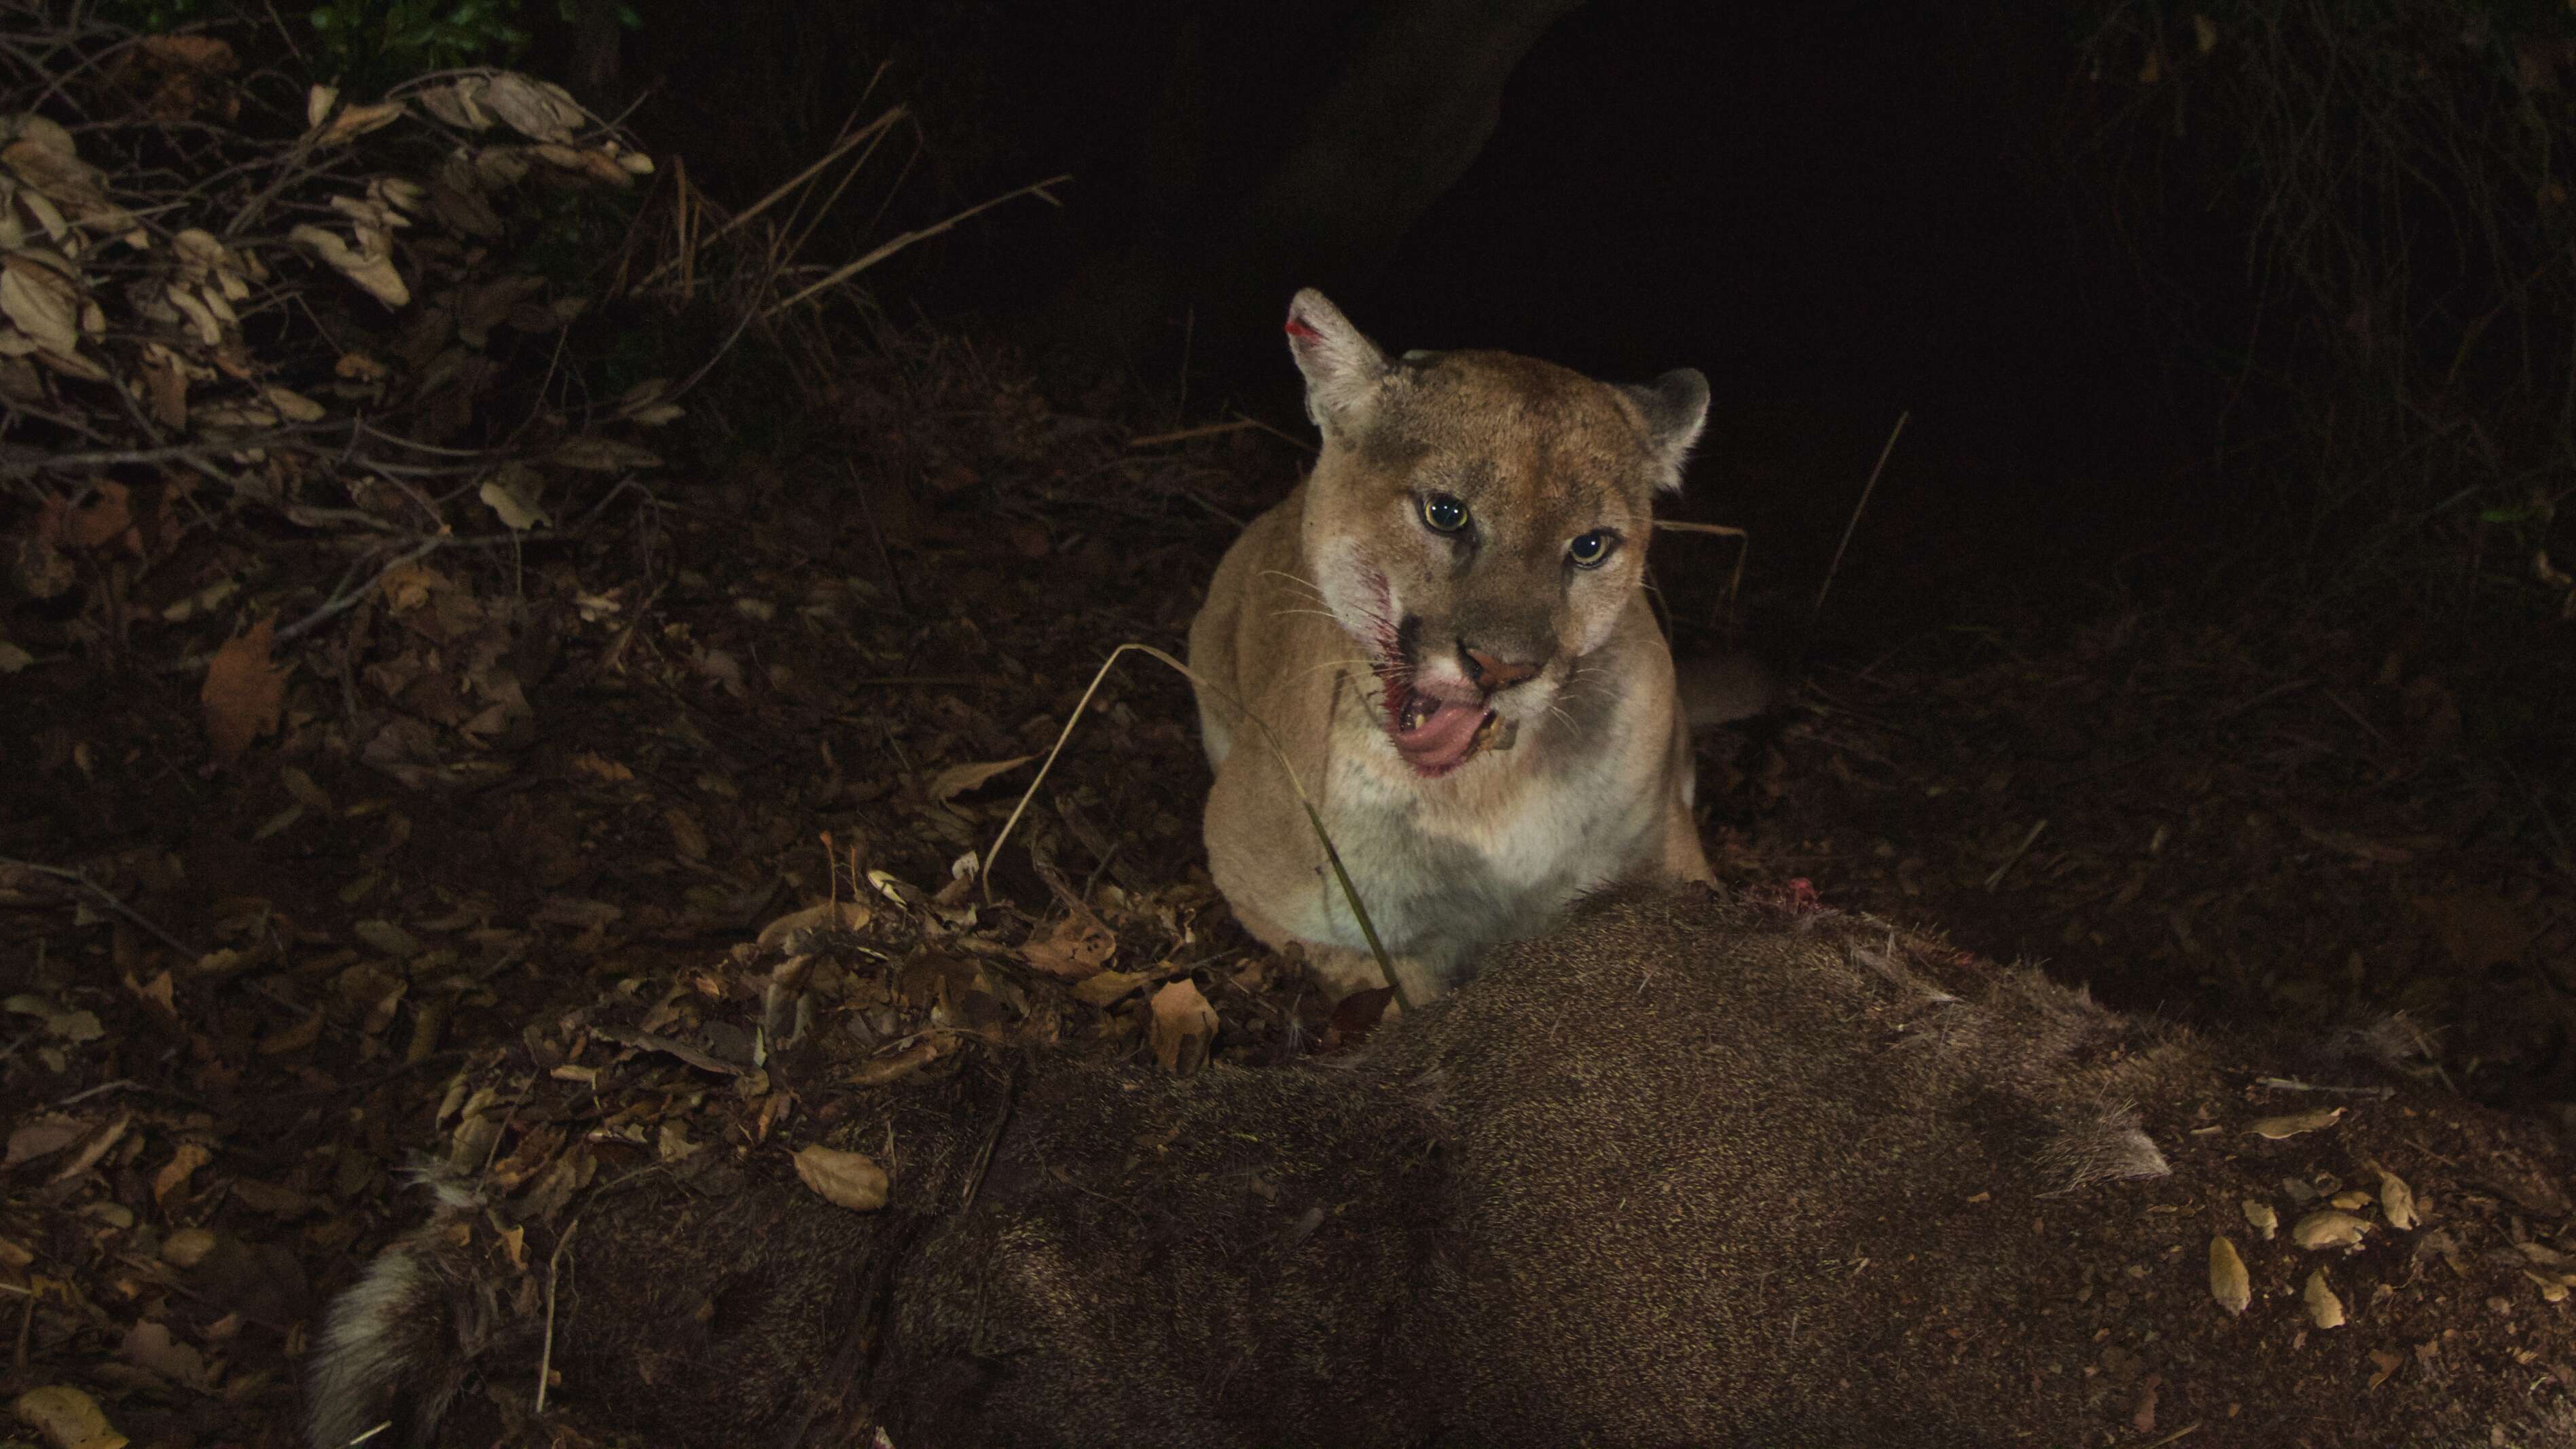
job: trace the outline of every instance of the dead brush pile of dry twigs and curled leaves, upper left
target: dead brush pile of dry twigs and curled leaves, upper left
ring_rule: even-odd
[[[574,561],[649,551],[680,394],[945,224],[781,242],[902,108],[744,226],[770,201],[726,216],[544,80],[355,98],[252,41],[0,5],[0,672],[201,677],[216,762],[474,780],[567,620],[631,623]]]

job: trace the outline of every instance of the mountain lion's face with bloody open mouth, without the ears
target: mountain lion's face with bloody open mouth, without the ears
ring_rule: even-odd
[[[1623,389],[1507,353],[1388,363],[1368,417],[1327,427],[1306,556],[1406,764],[1445,775],[1615,687],[1584,661],[1643,579],[1672,476]]]

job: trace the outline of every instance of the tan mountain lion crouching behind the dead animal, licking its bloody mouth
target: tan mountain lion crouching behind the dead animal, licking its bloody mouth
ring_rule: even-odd
[[[1226,551],[1190,625],[1208,867],[1234,914],[1303,945],[1334,991],[1378,983],[1291,770],[1409,1001],[1582,891],[1708,880],[1690,726],[1767,690],[1741,664],[1705,672],[1685,718],[1641,587],[1651,497],[1682,486],[1708,381],[1388,360],[1316,291],[1288,306],[1288,350],[1321,458]],[[1280,749],[1247,739],[1244,710]]]

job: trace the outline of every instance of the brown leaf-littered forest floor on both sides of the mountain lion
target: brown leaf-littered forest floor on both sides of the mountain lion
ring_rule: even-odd
[[[392,672],[307,679],[229,767],[196,679],[62,654],[0,685],[0,1398],[294,1444],[307,1318],[415,1220],[402,1168],[459,1150],[469,1078],[526,1071],[471,1143],[520,1181],[814,1112],[744,1022],[762,927],[817,901],[866,903],[837,960],[884,965],[840,988],[835,1081],[902,1091],[948,1037],[1151,1055],[1172,981],[1226,1058],[1365,1029],[1208,888],[1190,692],[1144,656],[989,896],[953,875],[1113,646],[1180,651],[1301,443],[1154,440],[1133,394],[1046,399],[953,342],[837,399],[873,443],[744,448],[616,548],[399,579],[345,623]],[[523,718],[374,749],[459,713],[402,659],[471,651],[492,600],[546,620]],[[2576,821],[2463,744],[2494,700],[2403,631],[2223,618],[2004,600],[1821,651],[1777,718],[1703,739],[1710,860],[2120,1006],[2398,1032],[2476,1096],[2576,1102]]]

